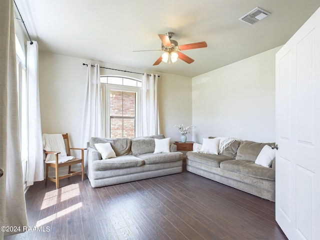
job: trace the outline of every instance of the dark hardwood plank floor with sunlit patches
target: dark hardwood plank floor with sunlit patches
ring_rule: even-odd
[[[35,182],[26,192],[30,227],[4,239],[287,239],[274,202],[196,174],[92,188],[80,176]]]

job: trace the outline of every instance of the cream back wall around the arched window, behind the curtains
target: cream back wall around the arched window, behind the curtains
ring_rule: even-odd
[[[87,59],[39,52],[39,91],[42,133],[64,133],[70,135],[70,145],[80,145],[83,97],[85,92],[86,66],[82,63],[99,63],[100,66],[134,72],[150,72],[111,63],[94,62]],[[101,74],[129,74],[100,68]],[[191,78],[155,72],[158,82],[160,129],[171,141],[179,140],[180,134],[174,124],[192,121]]]

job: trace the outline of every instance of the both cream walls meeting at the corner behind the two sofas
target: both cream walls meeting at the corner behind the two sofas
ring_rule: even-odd
[[[160,75],[159,115],[161,133],[179,140],[174,124],[196,126],[188,140],[207,136],[235,136],[255,141],[275,140],[275,53],[270,49],[219,69],[189,77]],[[86,66],[90,60],[39,52],[39,90],[43,133],[68,132],[71,145],[80,147]],[[110,68],[150,72],[111,63]],[[100,69],[101,74],[140,77]]]

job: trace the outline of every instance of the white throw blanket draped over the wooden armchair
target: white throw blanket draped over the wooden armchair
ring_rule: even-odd
[[[42,134],[42,144],[45,151],[59,151],[58,162],[63,163],[74,159],[74,156],[67,156],[62,134]],[[47,154],[45,163],[54,163],[55,154]]]

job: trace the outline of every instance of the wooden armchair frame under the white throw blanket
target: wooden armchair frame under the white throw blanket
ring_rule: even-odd
[[[83,165],[83,150],[86,148],[74,148],[74,147],[69,147],[69,138],[68,138],[68,133],[62,134],[62,137],[65,141],[65,151],[67,156],[70,156],[70,149],[75,149],[75,150],[80,150],[81,151],[81,158],[74,158],[72,160],[68,160],[63,163],[58,162],[58,151],[44,151],[45,157],[47,154],[54,154],[55,155],[55,162],[54,163],[45,163],[45,180],[44,184],[47,183],[47,180],[55,182],[55,187],[56,189],[59,188],[59,180],[70,177],[73,175],[81,175],[81,179],[83,181],[83,176],[84,176],[84,165]],[[81,170],[80,171],[71,171],[71,165],[81,163]],[[48,176],[48,168],[53,167],[55,168],[55,177],[49,177]],[[63,166],[68,166],[68,174],[59,176],[59,168]]]

